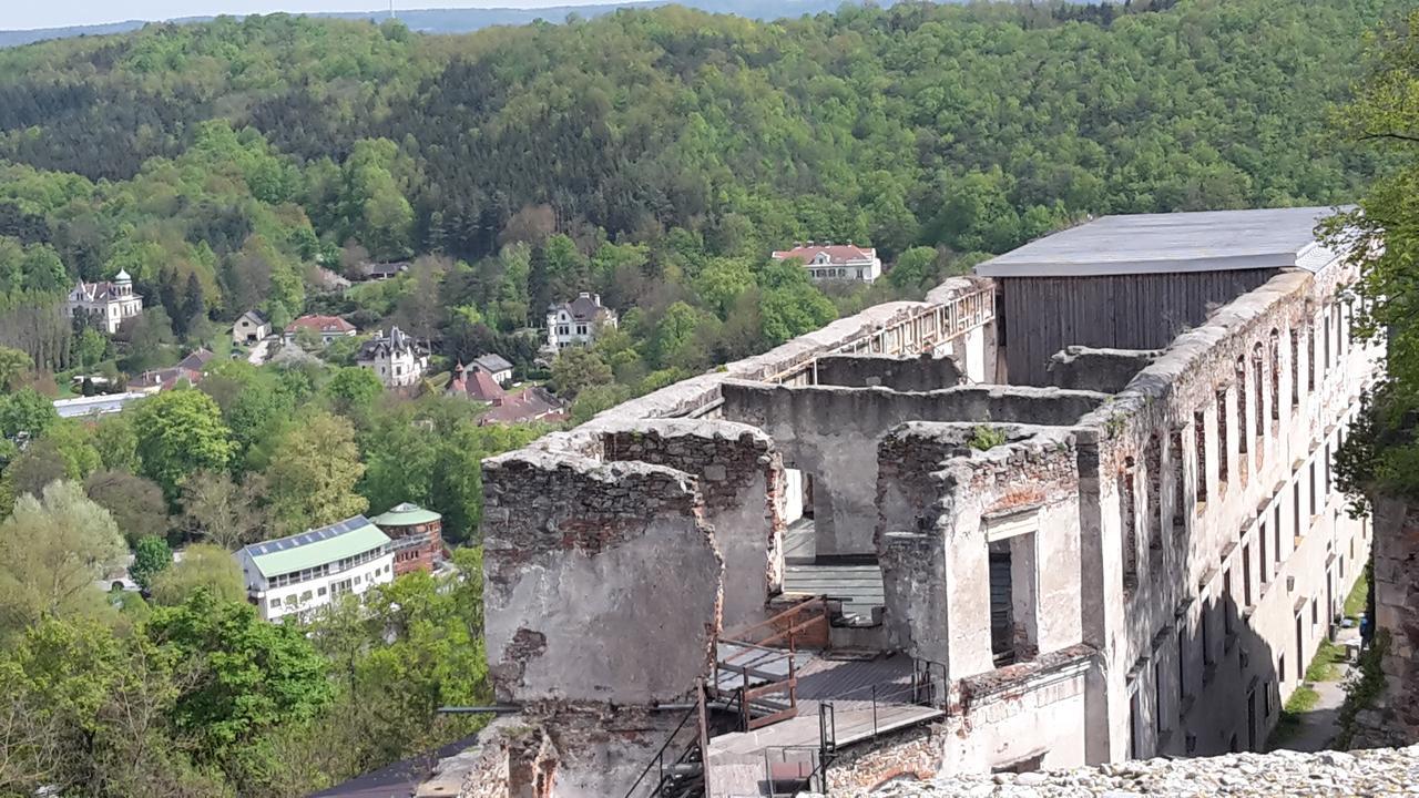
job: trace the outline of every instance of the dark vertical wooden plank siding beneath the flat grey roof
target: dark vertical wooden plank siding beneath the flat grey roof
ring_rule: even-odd
[[[1273,268],[999,277],[1009,382],[1050,385],[1050,358],[1070,345],[1162,349],[1179,332],[1277,274]]]

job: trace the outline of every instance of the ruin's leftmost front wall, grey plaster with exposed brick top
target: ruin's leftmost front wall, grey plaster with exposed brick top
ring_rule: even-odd
[[[674,701],[719,628],[692,477],[522,452],[484,461],[490,673],[504,701]]]

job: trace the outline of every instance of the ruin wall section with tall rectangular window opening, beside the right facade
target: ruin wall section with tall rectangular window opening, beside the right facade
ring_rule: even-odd
[[[1029,547],[1015,576],[1034,605],[1016,613],[1029,647],[1047,653],[1080,642],[1073,437],[1047,427],[1005,432],[1029,437],[975,452],[964,447],[965,426],[917,422],[878,446],[888,635],[914,656],[946,665],[951,679],[995,669],[988,528],[996,520],[1023,530],[1007,538],[1012,547]]]

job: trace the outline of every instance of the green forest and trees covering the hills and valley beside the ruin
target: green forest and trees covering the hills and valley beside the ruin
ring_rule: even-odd
[[[555,426],[484,426],[440,390],[454,364],[501,354],[576,423],[1090,216],[1354,202],[1402,153],[1332,109],[1406,6],[270,16],[0,50],[0,795],[307,795],[474,731],[436,710],[491,700],[478,463]],[[887,274],[771,260],[803,240]],[[65,315],[121,270],[140,317]],[[619,328],[539,359],[578,291]],[[250,310],[397,324],[434,373],[386,390],[363,337],[228,358]],[[51,403],[199,346],[196,388]],[[231,550],[402,501],[443,514],[461,576],[308,628],[244,601]],[[142,594],[101,589],[128,557]]]

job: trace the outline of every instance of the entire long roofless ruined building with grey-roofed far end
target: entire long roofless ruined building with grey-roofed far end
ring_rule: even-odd
[[[519,711],[441,778],[846,795],[1263,750],[1372,537],[1331,463],[1384,346],[1330,213],[1095,219],[484,460]]]

